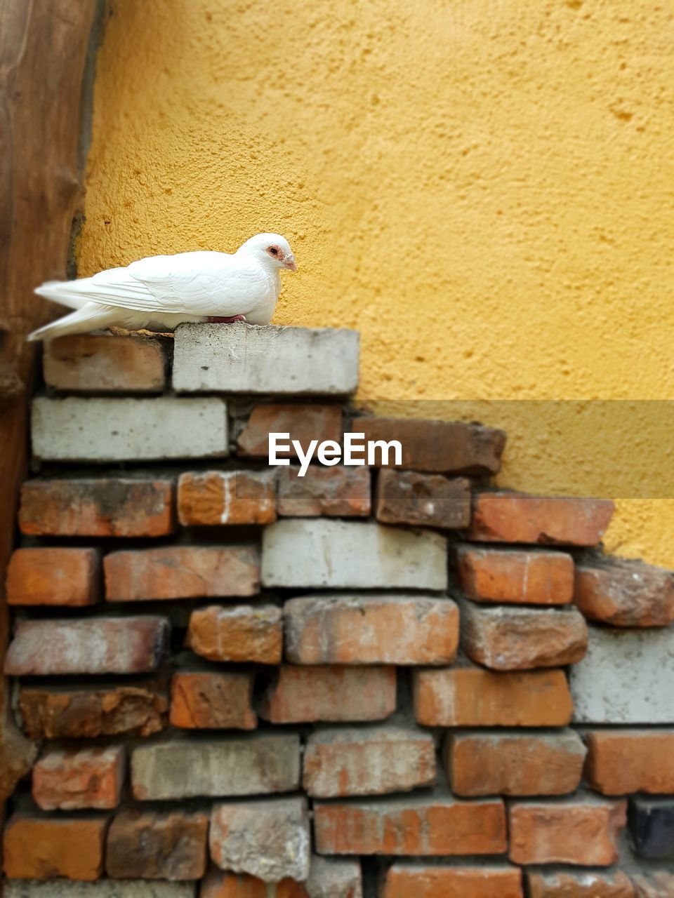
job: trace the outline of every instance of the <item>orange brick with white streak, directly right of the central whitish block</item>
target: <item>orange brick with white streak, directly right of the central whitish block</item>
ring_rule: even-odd
[[[457,577],[476,602],[562,605],[573,598],[573,559],[545,549],[456,548]]]

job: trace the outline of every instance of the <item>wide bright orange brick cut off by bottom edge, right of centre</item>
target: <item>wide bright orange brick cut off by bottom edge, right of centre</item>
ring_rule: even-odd
[[[397,862],[384,877],[381,898],[524,898],[516,867],[423,867]]]

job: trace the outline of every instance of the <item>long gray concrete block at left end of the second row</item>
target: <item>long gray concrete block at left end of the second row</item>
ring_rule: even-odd
[[[226,455],[221,399],[49,399],[32,404],[32,452],[50,462],[137,462]]]

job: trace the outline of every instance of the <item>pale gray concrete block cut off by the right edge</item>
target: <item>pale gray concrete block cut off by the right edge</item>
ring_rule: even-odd
[[[569,675],[577,723],[674,723],[674,628],[590,627]]]

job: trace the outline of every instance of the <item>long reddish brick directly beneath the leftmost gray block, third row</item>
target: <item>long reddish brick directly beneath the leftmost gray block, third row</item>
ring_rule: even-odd
[[[29,480],[19,527],[31,536],[165,536],[175,529],[173,481]]]

